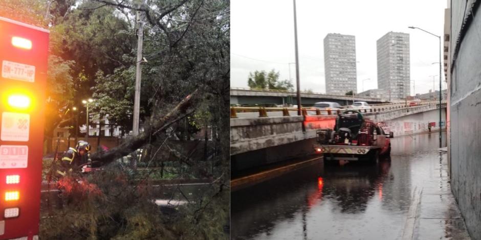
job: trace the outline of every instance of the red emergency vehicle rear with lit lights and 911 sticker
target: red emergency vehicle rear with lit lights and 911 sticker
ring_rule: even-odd
[[[0,17],[0,239],[38,239],[49,31]]]

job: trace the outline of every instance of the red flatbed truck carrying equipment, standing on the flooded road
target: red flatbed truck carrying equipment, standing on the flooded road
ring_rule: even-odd
[[[370,161],[389,156],[393,133],[383,129],[360,112],[347,110],[339,114],[334,129],[317,130],[314,150],[327,161]]]

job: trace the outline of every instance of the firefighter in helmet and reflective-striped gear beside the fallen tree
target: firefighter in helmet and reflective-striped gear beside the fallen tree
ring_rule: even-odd
[[[69,148],[61,159],[60,169],[57,170],[59,177],[72,173],[80,165],[90,163],[90,144],[89,142],[80,140],[75,148]]]

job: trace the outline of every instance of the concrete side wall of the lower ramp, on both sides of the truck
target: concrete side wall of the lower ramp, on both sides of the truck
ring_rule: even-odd
[[[446,101],[442,102],[442,108],[442,119],[446,119]],[[233,166],[244,169],[253,162],[267,164],[312,154],[316,130],[333,128],[337,115],[315,115],[315,110],[310,111],[302,116],[231,118],[230,152]],[[392,131],[395,137],[427,132],[428,123],[433,122],[436,126],[431,128],[432,131],[439,131],[439,102],[436,101],[422,102],[418,106],[378,105],[365,111],[362,113],[364,116],[381,123],[383,129],[386,132]],[[283,114],[287,112],[284,111]]]

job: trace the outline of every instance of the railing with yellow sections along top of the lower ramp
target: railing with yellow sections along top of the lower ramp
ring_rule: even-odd
[[[447,103],[447,101],[442,101],[442,104]],[[439,101],[425,101],[419,102],[416,105],[406,105],[405,103],[391,103],[391,104],[383,104],[383,105],[371,105],[371,108],[368,109],[329,109],[329,108],[313,108],[313,107],[305,107],[301,108],[302,116],[305,115],[338,115],[343,111],[346,110],[356,110],[361,113],[368,113],[368,112],[384,112],[384,111],[391,111],[391,110],[401,110],[406,108],[414,108],[426,105],[439,105]],[[374,106],[374,107],[373,107]],[[281,113],[282,115],[278,114],[279,116],[291,116],[294,112],[295,115],[298,114],[298,108],[293,107],[231,107],[230,108],[230,117],[237,118],[237,113],[245,113],[245,112],[257,112],[258,117],[269,117],[267,112],[277,112]],[[311,114],[309,114],[311,113]],[[251,116],[252,117],[252,116]]]

